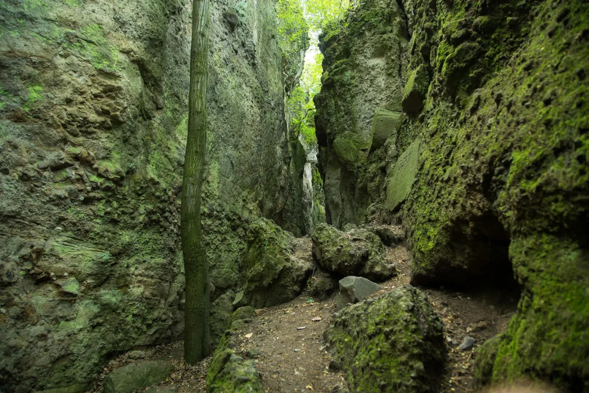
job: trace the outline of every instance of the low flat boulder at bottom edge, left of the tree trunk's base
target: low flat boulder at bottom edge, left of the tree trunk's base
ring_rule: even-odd
[[[130,363],[110,372],[104,378],[104,393],[132,393],[157,384],[170,375],[174,367],[170,363]]]

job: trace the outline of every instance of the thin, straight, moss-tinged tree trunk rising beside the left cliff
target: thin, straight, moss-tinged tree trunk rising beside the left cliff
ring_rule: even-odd
[[[208,22],[209,0],[193,0],[188,141],[180,209],[186,277],[184,358],[188,364],[194,364],[210,353],[209,268],[200,222],[201,185],[207,144]]]

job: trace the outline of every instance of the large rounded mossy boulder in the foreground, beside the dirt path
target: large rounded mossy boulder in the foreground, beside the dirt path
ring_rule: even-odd
[[[425,393],[444,372],[442,327],[425,294],[405,285],[337,312],[326,338],[353,391]]]

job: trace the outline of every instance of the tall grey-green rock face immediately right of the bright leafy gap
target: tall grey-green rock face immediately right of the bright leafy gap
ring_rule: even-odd
[[[382,193],[377,184],[382,165],[367,156],[375,110],[401,111],[405,16],[396,2],[362,2],[345,27],[330,26],[320,41],[325,59],[322,90],[315,97],[319,161],[327,221],[342,228],[358,223]]]

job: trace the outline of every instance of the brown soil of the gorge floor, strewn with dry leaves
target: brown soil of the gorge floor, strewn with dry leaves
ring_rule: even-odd
[[[312,258],[310,239],[297,240],[299,258]],[[396,264],[399,274],[380,283],[383,289],[373,296],[409,284],[411,261],[403,246],[388,248],[387,258]],[[444,322],[448,345],[448,372],[442,393],[474,391],[473,364],[478,345],[505,331],[515,313],[518,294],[501,290],[460,292],[446,288],[420,288],[432,302]],[[292,301],[256,310],[256,317],[236,332],[238,354],[258,349],[256,368],[262,375],[267,392],[339,392],[347,391],[345,374],[329,369],[330,357],[325,350],[323,334],[336,311],[334,297],[316,301],[308,289]],[[465,336],[476,339],[474,347],[461,351],[458,347]],[[165,385],[178,386],[178,392],[205,392],[205,375],[210,357],[196,366],[183,361],[183,343],[160,345],[149,359],[170,359],[175,370]],[[125,358],[127,357],[127,358]],[[128,354],[111,361],[98,378],[95,392],[101,391],[101,381],[115,367],[130,362]]]

